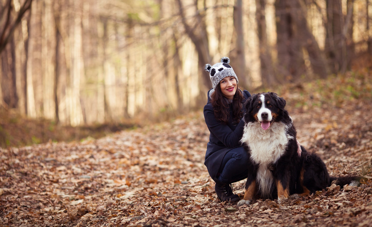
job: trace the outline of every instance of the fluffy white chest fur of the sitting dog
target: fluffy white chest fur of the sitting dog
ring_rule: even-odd
[[[278,161],[285,152],[288,140],[293,139],[286,133],[287,129],[281,122],[272,123],[267,130],[263,130],[257,121],[248,122],[244,127],[241,142],[250,147],[251,160],[259,164],[256,180],[263,196],[270,196],[274,183],[267,166]]]

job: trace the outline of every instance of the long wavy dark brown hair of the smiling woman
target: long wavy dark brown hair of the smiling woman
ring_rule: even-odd
[[[230,118],[230,108],[227,103],[227,98],[224,97],[221,87],[217,85],[214,93],[211,95],[211,103],[214,110],[214,116],[217,120],[227,124]],[[236,88],[234,98],[232,99],[232,121],[239,122],[243,116],[243,94]]]

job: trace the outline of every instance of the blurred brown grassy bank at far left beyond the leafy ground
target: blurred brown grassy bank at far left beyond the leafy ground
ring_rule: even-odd
[[[103,136],[141,126],[140,121],[67,126],[47,119],[30,119],[0,107],[0,147],[21,147],[48,142],[72,142]]]

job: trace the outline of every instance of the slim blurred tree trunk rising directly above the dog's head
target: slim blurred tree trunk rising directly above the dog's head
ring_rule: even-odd
[[[279,80],[276,80],[274,76],[272,58],[267,44],[265,5],[265,0],[256,0],[256,22],[259,39],[261,80],[262,84],[267,87],[274,83],[277,84]]]

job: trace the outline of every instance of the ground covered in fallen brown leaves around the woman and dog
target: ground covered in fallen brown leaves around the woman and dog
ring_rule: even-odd
[[[362,174],[278,203],[219,202],[203,165],[201,111],[83,142],[0,149],[0,226],[371,226],[372,74],[275,91],[331,175]],[[244,181],[233,184],[243,197]]]

